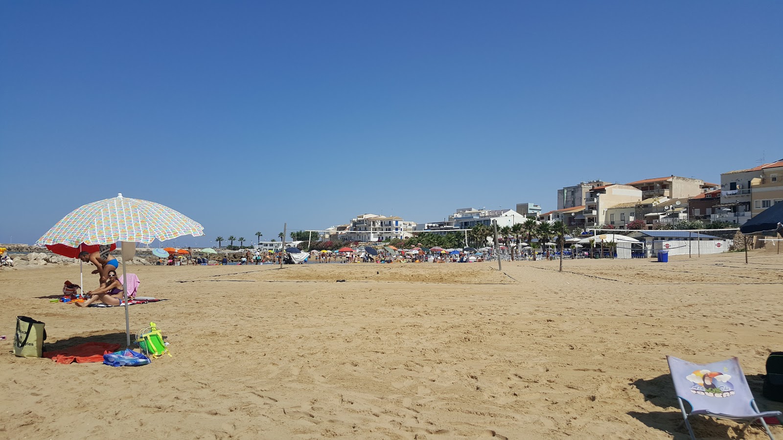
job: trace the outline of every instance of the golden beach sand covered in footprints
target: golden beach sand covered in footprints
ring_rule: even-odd
[[[3,271],[0,438],[686,438],[666,355],[736,355],[760,406],[783,409],[760,379],[783,351],[783,258],[743,258],[565,261],[565,273],[557,261],[136,265],[139,294],[168,301],[132,306],[132,331],[157,323],[173,357],[135,368],[14,357],[17,315],[63,348],[124,344],[124,309],[37,298],[77,279],[73,266]]]

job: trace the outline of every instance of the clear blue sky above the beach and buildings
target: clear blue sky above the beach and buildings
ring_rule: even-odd
[[[2,2],[0,242],[74,208],[266,239],[783,157],[781,2]],[[8,185],[10,183],[10,185]]]

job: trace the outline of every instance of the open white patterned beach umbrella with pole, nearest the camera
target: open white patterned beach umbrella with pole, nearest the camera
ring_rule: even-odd
[[[153,240],[171,240],[178,236],[204,235],[204,226],[178,211],[148,200],[117,197],[85,204],[66,215],[38,239],[39,246],[47,244],[111,244],[122,242],[122,272],[126,278],[125,260],[135,253],[135,243]],[[128,285],[128,280],[123,280]],[[125,303],[125,336],[131,345],[131,324],[128,316],[128,290],[123,290]]]

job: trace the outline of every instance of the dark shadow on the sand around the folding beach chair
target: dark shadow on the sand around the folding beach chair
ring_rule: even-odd
[[[756,397],[756,404],[761,411],[781,411],[783,410],[783,403],[772,402],[764,399],[761,395],[763,386],[763,375],[752,374],[745,376],[750,385],[750,390]],[[634,380],[629,385],[636,387],[639,392],[644,395],[644,400],[650,402],[659,408],[665,409],[663,411],[629,411],[627,414],[630,417],[639,420],[641,423],[646,424],[648,427],[664,431],[677,440],[685,440],[690,438],[687,434],[687,429],[683,424],[682,413],[680,412],[680,404],[677,402],[677,395],[674,392],[674,383],[672,377],[669,374],[663,374],[659,377],[654,377],[649,380],[639,379]],[[691,406],[685,402],[685,409],[691,410]],[[691,417],[691,427],[697,438],[736,438],[742,429],[742,424],[737,424],[731,420],[716,420],[708,417],[695,416]],[[750,431],[756,431],[761,429],[760,427],[750,427]],[[773,435],[781,434],[780,426],[770,426]],[[764,435],[766,438],[766,435]]]

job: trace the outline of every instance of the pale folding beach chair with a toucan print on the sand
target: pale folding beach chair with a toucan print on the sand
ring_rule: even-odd
[[[745,429],[752,422],[760,420],[764,431],[774,440],[763,417],[779,417],[781,412],[759,412],[737,358],[706,365],[698,365],[673,356],[666,356],[666,360],[669,362],[684,424],[693,440],[696,440],[696,437],[691,422],[688,421],[691,416],[746,421],[740,435],[745,433]],[[691,413],[685,410],[684,400],[691,405]]]

